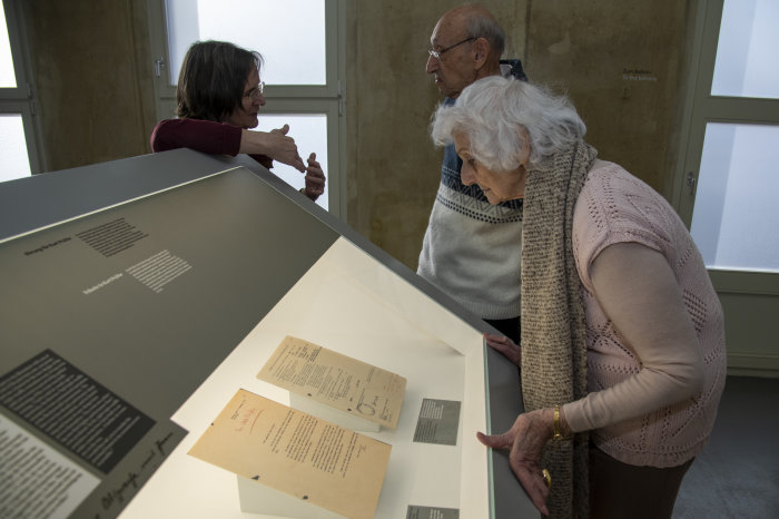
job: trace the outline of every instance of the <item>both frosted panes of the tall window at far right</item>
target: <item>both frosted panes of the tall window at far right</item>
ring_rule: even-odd
[[[779,272],[777,27],[776,0],[723,2],[691,226],[710,268]]]

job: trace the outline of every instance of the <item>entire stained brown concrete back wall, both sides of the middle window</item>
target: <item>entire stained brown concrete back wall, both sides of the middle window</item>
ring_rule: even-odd
[[[672,168],[692,0],[484,1],[504,57],[568,92],[601,158],[661,189]],[[22,2],[49,169],[149,153],[154,88],[144,0]],[[348,224],[416,268],[440,180],[425,74],[438,17],[461,2],[346,0]]]

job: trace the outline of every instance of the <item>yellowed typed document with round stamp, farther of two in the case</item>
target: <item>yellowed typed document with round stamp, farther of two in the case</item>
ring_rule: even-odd
[[[406,379],[286,336],[257,378],[389,429],[397,428]]]

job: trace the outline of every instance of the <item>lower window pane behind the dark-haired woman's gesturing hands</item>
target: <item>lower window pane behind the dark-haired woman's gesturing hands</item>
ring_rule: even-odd
[[[322,165],[322,169],[327,176],[329,172],[327,167],[327,116],[324,114],[262,114],[259,125],[255,129],[270,131],[284,125],[289,125],[287,135],[295,139],[303,161],[305,163],[308,155],[315,153],[316,160]],[[272,172],[295,189],[305,185],[304,175],[292,166],[274,160]],[[327,184],[325,184],[325,193],[319,195],[316,203],[327,209]]]

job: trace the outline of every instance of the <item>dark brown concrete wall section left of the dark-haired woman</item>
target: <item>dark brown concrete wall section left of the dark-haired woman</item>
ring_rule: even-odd
[[[150,153],[142,1],[22,1],[49,170]]]

